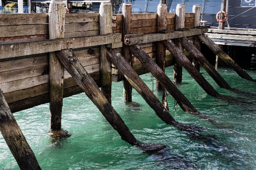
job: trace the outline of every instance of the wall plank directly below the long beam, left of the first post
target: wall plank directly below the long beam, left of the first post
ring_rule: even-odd
[[[41,66],[49,64],[49,56],[37,56],[37,57],[30,57],[30,58],[21,58],[17,60],[11,61],[2,61],[0,62],[0,72],[7,72],[10,70],[16,69],[23,69],[33,66]]]

